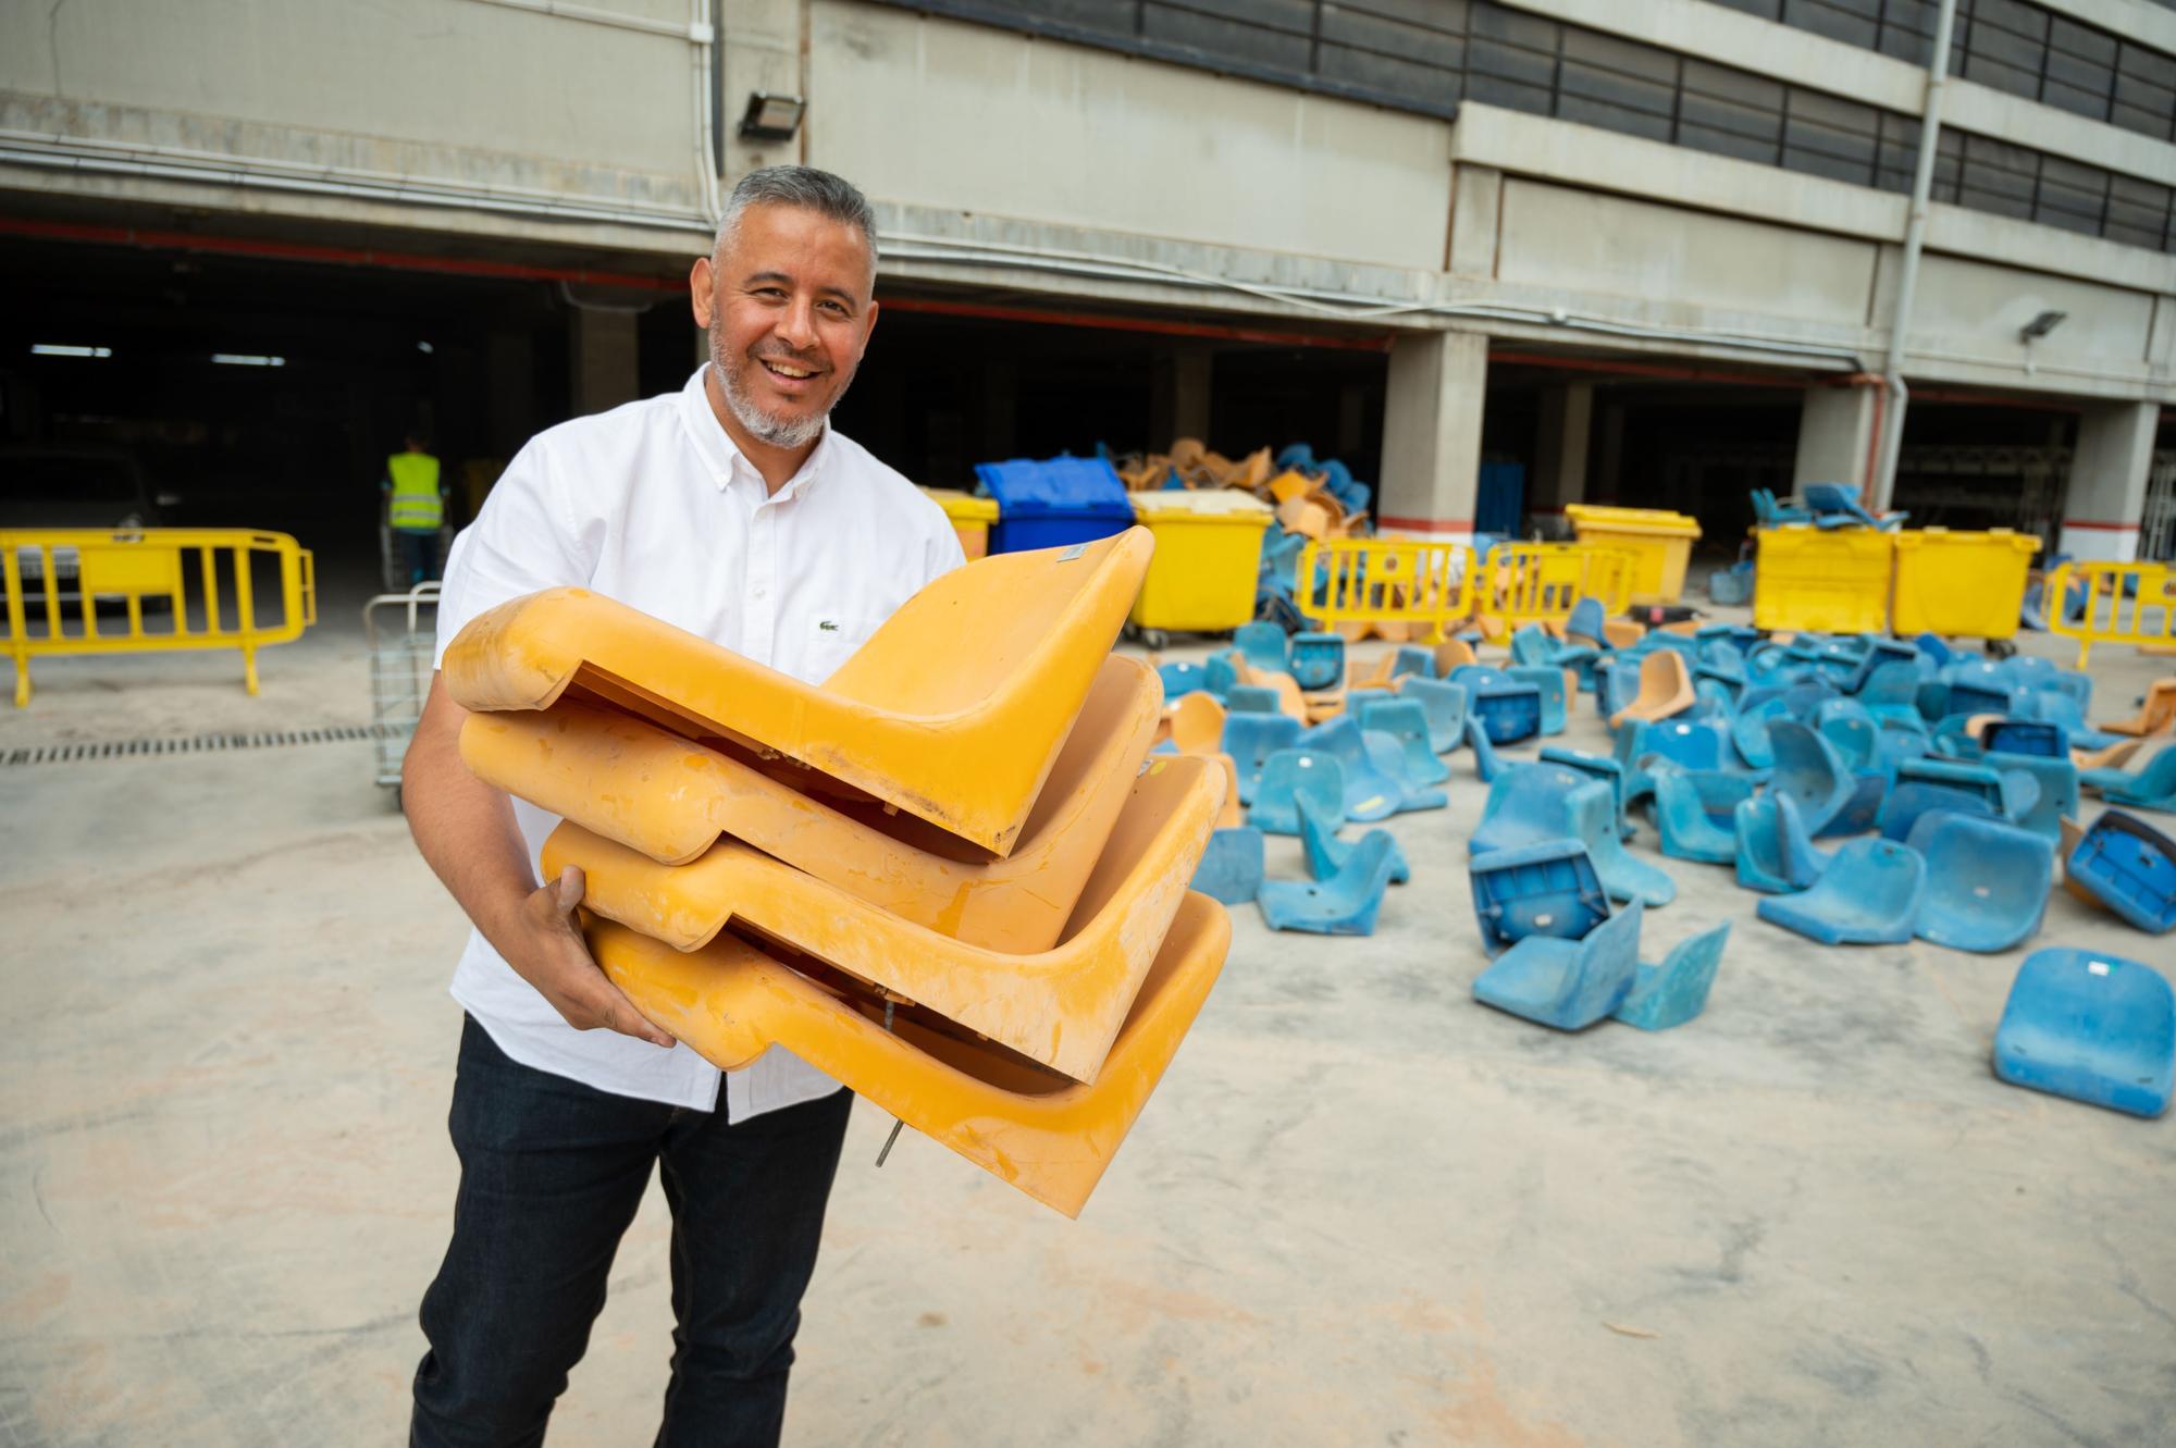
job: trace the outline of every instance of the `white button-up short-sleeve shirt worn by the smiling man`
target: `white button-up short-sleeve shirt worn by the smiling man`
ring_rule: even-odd
[[[485,609],[579,585],[823,683],[899,604],[964,561],[944,509],[836,430],[768,494],[712,413],[705,372],[677,394],[529,439],[453,541],[437,604],[440,661]],[[531,870],[542,870],[544,837],[559,817],[524,800],[514,800],[514,817]],[[696,1111],[718,1104],[718,1068],[685,1044],[659,1050],[568,1026],[481,931],[468,935],[453,998],[524,1065],[618,1096]],[[836,1089],[775,1046],[725,1074],[727,1118]]]

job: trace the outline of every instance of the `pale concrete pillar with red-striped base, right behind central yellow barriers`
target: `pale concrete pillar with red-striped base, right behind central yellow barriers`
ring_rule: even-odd
[[[1486,394],[1488,337],[1480,333],[1408,333],[1390,348],[1375,504],[1386,533],[1473,533]]]

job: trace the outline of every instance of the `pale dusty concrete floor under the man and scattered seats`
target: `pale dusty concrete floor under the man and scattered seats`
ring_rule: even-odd
[[[41,663],[0,750],[363,722],[335,583],[261,698],[233,657]],[[2154,663],[2104,650],[2095,715]],[[1989,1074],[2022,950],[1815,948],[1669,861],[1643,954],[1730,920],[1708,1013],[1556,1035],[1469,996],[1451,761],[1375,937],[1236,911],[1084,1220],[912,1133],[879,1172],[857,1111],[790,1444],[2176,1441],[2176,1137]],[[0,1444],[398,1441],[463,922],[370,746],[0,767]],[[2176,965],[2063,891],[2032,944]],[[653,1189],[555,1444],[648,1439],[664,1239]]]

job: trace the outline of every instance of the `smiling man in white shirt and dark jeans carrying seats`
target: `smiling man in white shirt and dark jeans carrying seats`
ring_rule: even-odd
[[[942,509],[825,422],[877,322],[875,267],[838,176],[733,187],[690,276],[709,365],[522,448],[455,544],[440,657],[477,613],[572,583],[823,681],[955,567]],[[775,1444],[851,1098],[783,1050],[720,1081],[644,1020],[574,926],[581,872],[537,885],[557,820],[461,767],[461,717],[433,681],[403,772],[416,844],[477,926],[411,1441],[542,1439],[655,1161],[677,1318],[657,1444]]]

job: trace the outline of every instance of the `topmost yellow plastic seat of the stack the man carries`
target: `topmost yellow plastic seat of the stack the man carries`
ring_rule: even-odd
[[[1003,552],[910,598],[820,687],[588,589],[472,620],[444,678],[470,711],[544,709],[570,689],[675,733],[803,765],[1007,854],[1088,685],[1134,607],[1147,528]]]

